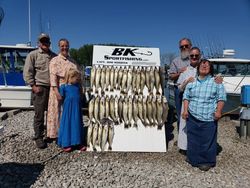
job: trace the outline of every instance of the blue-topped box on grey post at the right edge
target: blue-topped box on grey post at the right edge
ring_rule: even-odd
[[[250,137],[250,85],[241,87],[240,137]]]

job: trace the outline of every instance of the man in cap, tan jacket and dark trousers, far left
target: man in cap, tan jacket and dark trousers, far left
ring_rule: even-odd
[[[47,147],[44,137],[44,112],[48,107],[49,98],[49,62],[56,56],[50,50],[50,37],[42,33],[38,37],[38,49],[30,52],[25,60],[23,77],[32,87],[32,100],[34,105],[34,140],[40,149]]]

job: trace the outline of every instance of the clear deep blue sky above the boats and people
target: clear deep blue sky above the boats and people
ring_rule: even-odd
[[[28,0],[0,6],[0,43],[27,43]],[[72,48],[117,43],[178,53],[179,39],[189,37],[203,50],[230,48],[250,58],[250,0],[31,0],[33,46],[41,31],[56,52],[57,41],[67,38]]]

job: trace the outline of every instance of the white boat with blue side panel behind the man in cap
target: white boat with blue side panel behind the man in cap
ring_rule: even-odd
[[[34,49],[25,44],[0,45],[1,108],[32,108],[31,87],[23,80],[23,66],[27,54]]]

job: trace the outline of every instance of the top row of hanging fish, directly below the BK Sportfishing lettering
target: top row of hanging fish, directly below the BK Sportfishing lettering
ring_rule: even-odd
[[[142,94],[144,88],[148,93],[152,93],[154,88],[156,93],[162,94],[162,84],[164,81],[163,69],[160,67],[143,66],[93,66],[90,76],[90,87],[95,88],[97,93],[101,91],[120,90],[121,93]]]

